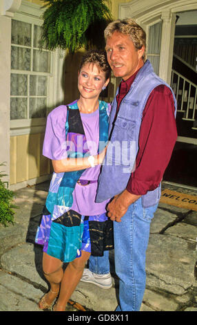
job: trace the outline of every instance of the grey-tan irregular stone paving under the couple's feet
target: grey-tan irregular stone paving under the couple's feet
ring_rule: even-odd
[[[163,188],[197,196],[194,189],[163,183]],[[34,236],[45,203],[48,182],[15,192],[14,225],[0,226],[0,311],[39,311],[48,290],[42,275],[42,250]],[[147,285],[141,311],[197,311],[197,212],[160,203],[147,249]],[[118,279],[110,252],[113,286],[103,290],[80,282],[71,299],[85,310],[114,311]],[[67,310],[76,311],[68,304]]]

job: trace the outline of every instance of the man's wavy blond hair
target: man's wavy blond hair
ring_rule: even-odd
[[[142,46],[145,47],[145,53],[143,55],[143,61],[145,62],[146,59],[146,33],[139,26],[136,24],[136,21],[131,18],[125,18],[123,20],[117,19],[116,21],[112,21],[104,31],[105,40],[108,37],[111,37],[114,32],[121,32],[122,34],[128,35],[132,42],[134,43],[134,46],[136,50],[140,50]]]

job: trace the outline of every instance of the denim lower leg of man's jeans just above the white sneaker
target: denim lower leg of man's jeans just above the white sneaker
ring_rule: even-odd
[[[105,250],[103,257],[90,255],[89,269],[97,275],[105,275],[110,272],[109,250]]]

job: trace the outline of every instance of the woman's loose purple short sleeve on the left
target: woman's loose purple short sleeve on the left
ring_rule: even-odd
[[[52,160],[67,158],[65,142],[66,106],[56,107],[47,118],[45,138],[43,142],[43,156]]]

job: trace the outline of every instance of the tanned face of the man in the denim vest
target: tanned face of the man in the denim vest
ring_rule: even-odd
[[[132,39],[121,32],[114,32],[107,38],[105,50],[115,77],[127,80],[143,66],[144,46],[136,50]]]

